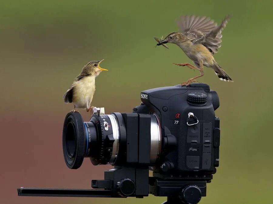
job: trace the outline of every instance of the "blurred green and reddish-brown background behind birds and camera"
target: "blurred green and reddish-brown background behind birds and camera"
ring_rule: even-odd
[[[92,199],[18,197],[20,186],[89,188],[111,166],[85,160],[78,170],[62,155],[62,95],[91,60],[105,59],[93,105],[131,112],[142,90],[179,84],[198,73],[174,44],[153,36],[177,31],[180,15],[206,15],[223,31],[215,59],[234,83],[205,68],[199,82],[218,92],[220,167],[203,204],[272,203],[272,1],[7,1],[0,3],[1,203],[161,203],[165,197]],[[126,93],[126,94],[124,94]],[[126,96],[126,97],[124,97]],[[89,113],[81,111],[88,120]]]

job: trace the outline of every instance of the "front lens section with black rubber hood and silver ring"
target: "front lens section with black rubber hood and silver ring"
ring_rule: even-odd
[[[79,168],[84,157],[89,157],[93,165],[116,161],[120,130],[114,114],[93,115],[89,122],[84,122],[78,112],[69,112],[62,138],[65,162],[70,169]]]

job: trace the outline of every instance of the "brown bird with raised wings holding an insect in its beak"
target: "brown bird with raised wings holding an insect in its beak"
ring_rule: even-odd
[[[226,16],[222,23],[217,25],[213,20],[205,16],[181,16],[180,20],[177,21],[180,32],[172,32],[165,39],[157,41],[157,45],[166,43],[178,45],[193,60],[195,66],[190,63],[174,64],[200,71],[199,76],[187,80],[181,86],[188,86],[190,83],[196,82],[195,79],[203,76],[203,66],[211,67],[219,79],[233,82],[213,57],[214,53],[217,53],[218,48],[221,47],[221,32],[226,27],[227,20],[230,17],[231,15]]]

